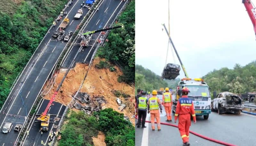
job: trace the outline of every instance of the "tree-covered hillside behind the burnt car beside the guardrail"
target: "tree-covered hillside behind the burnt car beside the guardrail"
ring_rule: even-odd
[[[256,61],[245,66],[236,64],[234,69],[227,67],[213,70],[203,76],[212,91],[229,91],[236,94],[256,91]]]

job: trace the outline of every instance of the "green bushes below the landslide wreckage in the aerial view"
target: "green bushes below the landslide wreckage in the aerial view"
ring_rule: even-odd
[[[59,146],[93,146],[92,136],[102,131],[107,146],[134,146],[135,129],[130,121],[124,120],[124,115],[104,109],[88,116],[82,111],[72,111],[68,123],[61,131]]]

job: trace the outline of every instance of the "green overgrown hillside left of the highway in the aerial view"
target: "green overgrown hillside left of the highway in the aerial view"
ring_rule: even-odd
[[[67,0],[3,2],[0,9],[0,107]]]

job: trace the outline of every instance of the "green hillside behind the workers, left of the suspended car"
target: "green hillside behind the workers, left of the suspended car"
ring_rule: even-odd
[[[145,69],[141,65],[135,66],[135,91],[143,89],[144,91],[152,92],[152,90],[159,90],[167,87],[168,84],[161,79],[159,75],[149,69]]]

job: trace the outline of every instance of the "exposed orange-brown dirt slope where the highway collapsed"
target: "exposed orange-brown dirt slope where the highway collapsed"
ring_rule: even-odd
[[[119,83],[117,81],[118,76],[123,74],[121,69],[117,66],[114,66],[116,68],[116,71],[114,72],[110,72],[108,68],[97,69],[95,65],[99,63],[100,60],[104,59],[94,59],[91,69],[87,74],[87,77],[80,92],[88,93],[91,97],[91,101],[93,97],[104,96],[107,104],[105,104],[103,108],[113,108],[118,112],[124,113],[124,115],[128,116],[132,123],[134,123],[135,121],[134,118],[132,118],[132,115],[134,114],[133,103],[135,99],[135,87],[127,85],[125,83]],[[54,91],[57,89],[60,81],[62,80],[64,74],[66,73],[66,70],[67,69],[61,69],[59,71],[53,87],[49,92],[48,88],[45,89],[46,92],[48,92],[48,94],[44,96],[45,99],[49,100],[51,98]],[[55,98],[55,101],[64,105],[68,105],[72,100],[72,95],[79,89],[87,70],[87,65],[77,63],[75,68],[70,70],[67,74],[67,78],[63,82],[62,87],[60,88],[58,95]],[[123,111],[120,111],[118,109],[119,106],[116,102],[116,96],[113,94],[114,90],[122,91],[123,93],[131,96],[128,99],[124,99],[124,97],[119,97],[123,101],[123,104],[126,104],[126,108]]]

